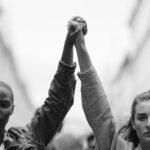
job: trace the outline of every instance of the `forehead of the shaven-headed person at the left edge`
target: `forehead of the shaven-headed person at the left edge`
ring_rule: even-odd
[[[0,100],[4,99],[12,100],[12,93],[7,87],[0,86]]]

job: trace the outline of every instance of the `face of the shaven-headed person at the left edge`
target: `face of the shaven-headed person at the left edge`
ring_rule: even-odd
[[[12,93],[6,87],[0,86],[0,129],[5,128],[13,107]]]

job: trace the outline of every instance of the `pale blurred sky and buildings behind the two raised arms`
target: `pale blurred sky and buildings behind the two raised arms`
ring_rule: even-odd
[[[15,95],[8,127],[25,125],[43,104],[67,22],[75,15],[88,23],[87,48],[118,124],[129,115],[133,98],[150,88],[149,0],[0,0],[0,80],[9,83]],[[82,143],[92,133],[78,78],[75,102],[61,133],[82,138]]]

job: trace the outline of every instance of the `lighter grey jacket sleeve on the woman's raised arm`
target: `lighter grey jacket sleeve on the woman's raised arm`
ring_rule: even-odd
[[[82,107],[94,132],[98,150],[124,150],[125,141],[116,133],[109,102],[94,67],[78,76],[81,80]]]

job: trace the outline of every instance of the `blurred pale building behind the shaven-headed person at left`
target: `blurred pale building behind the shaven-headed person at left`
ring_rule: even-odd
[[[32,114],[33,106],[30,102],[24,83],[17,72],[15,57],[13,56],[9,42],[8,16],[3,9],[3,1],[0,1],[0,80],[7,82],[13,89],[15,109],[10,117],[8,126],[26,124]]]

